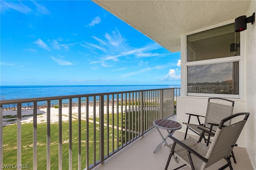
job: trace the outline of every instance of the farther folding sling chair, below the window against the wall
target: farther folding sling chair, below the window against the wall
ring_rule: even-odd
[[[220,102],[215,103],[214,101],[215,102],[220,101],[222,104],[220,104]],[[186,139],[188,129],[192,130],[194,133],[198,134],[199,136],[201,135],[202,130],[200,130],[198,127],[209,130],[210,132],[216,132],[218,127],[218,125],[216,126],[216,124],[220,123],[222,119],[232,115],[233,109],[234,109],[234,101],[218,98],[218,97],[208,98],[208,104],[207,104],[205,116],[186,113],[187,115],[189,115],[189,117],[188,117],[188,123],[184,123],[185,125],[187,125],[184,139]],[[197,118],[198,124],[190,123],[190,118],[192,116]],[[205,117],[204,123],[200,123],[200,119],[199,119],[200,117]],[[227,121],[224,125],[230,125],[230,123],[231,121]],[[208,135],[208,138],[206,138],[205,136],[203,136],[203,138],[204,138],[204,141],[207,142],[206,145],[208,146],[210,142],[210,135]],[[232,152],[232,157],[234,159],[234,162],[236,163],[236,158],[233,152]]]

